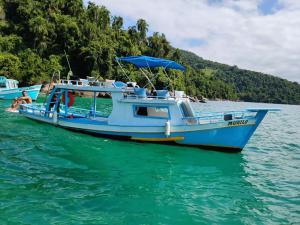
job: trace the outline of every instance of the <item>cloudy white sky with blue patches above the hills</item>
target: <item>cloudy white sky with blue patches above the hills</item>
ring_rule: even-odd
[[[87,0],[85,0],[87,2]],[[300,0],[92,0],[174,47],[300,83]]]

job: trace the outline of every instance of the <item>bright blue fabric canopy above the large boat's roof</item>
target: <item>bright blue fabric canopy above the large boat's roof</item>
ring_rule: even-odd
[[[150,56],[128,56],[116,58],[119,61],[129,62],[138,68],[164,67],[165,69],[176,69],[185,71],[185,67],[168,59],[160,59]]]

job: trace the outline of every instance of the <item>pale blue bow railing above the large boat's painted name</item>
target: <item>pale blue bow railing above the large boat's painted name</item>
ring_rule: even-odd
[[[198,125],[198,124],[210,124],[224,121],[249,119],[254,118],[257,112],[244,111],[224,111],[213,113],[200,113],[201,116],[196,117],[184,117],[182,118],[185,124]]]

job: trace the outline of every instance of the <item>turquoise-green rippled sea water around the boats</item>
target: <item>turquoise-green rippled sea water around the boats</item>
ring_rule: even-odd
[[[0,101],[1,224],[300,223],[299,106],[195,105],[282,109],[238,154],[97,138],[8,106]]]

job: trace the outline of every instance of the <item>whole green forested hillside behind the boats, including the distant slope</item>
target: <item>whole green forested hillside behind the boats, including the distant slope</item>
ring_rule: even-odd
[[[0,75],[23,85],[49,82],[54,70],[66,76],[69,57],[74,79],[96,76],[126,81],[115,57],[149,55],[183,63],[175,86],[193,96],[300,104],[300,85],[262,73],[204,60],[172,47],[164,34],[147,35],[148,24],[123,26],[123,18],[82,0],[0,0]],[[132,66],[129,76],[145,82]],[[169,80],[162,71],[155,85]]]

